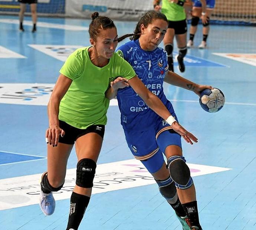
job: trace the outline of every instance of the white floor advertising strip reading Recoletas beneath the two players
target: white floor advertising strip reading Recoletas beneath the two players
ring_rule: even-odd
[[[191,176],[219,173],[232,170],[203,164],[189,164]],[[0,180],[0,210],[38,204],[40,178],[33,174]],[[76,168],[66,171],[62,189],[54,193],[55,200],[69,199],[76,181]],[[155,184],[152,175],[135,159],[98,164],[93,181],[92,194]],[[39,207],[38,207],[39,208]]]

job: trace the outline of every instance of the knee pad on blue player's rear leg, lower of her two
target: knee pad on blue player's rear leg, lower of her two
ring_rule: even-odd
[[[177,190],[171,177],[166,180],[156,180],[161,195],[170,203],[175,203],[178,199]]]

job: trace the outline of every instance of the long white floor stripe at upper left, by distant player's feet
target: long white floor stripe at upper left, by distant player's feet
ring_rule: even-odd
[[[0,19],[0,23],[10,23],[10,24],[20,24],[19,20],[17,19]],[[23,21],[23,25],[32,26],[32,21]],[[46,27],[46,28],[53,28],[53,29],[61,29],[61,30],[88,30],[88,27],[85,26],[73,26],[73,25],[65,25],[65,24],[57,24],[57,23],[47,23],[47,22],[40,22],[36,23],[37,27]]]

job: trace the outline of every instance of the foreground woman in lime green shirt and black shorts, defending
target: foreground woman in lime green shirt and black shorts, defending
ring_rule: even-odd
[[[95,12],[89,35],[92,46],[78,49],[68,57],[48,103],[47,172],[43,173],[40,184],[40,207],[44,214],[53,214],[52,192],[59,191],[64,184],[68,157],[75,144],[76,185],[70,198],[66,230],[78,230],[91,197],[107,121],[109,99],[106,91],[112,81],[118,80],[118,83],[109,88],[108,93],[131,86],[147,106],[188,143],[197,142],[197,138],[180,126],[161,100],[145,87],[130,64],[115,53],[118,41],[130,34],[118,38],[114,22]]]

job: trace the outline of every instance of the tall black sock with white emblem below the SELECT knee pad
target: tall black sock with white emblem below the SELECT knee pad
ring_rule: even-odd
[[[79,224],[83,219],[85,210],[89,204],[90,197],[73,192],[70,197],[70,210],[68,227],[66,230],[78,230]]]

